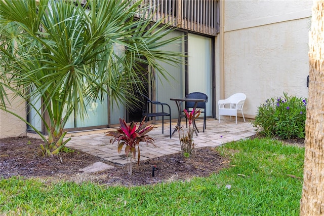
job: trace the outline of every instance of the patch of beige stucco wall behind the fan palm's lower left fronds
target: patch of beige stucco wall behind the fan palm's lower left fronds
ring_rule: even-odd
[[[9,91],[8,91],[9,93]],[[26,116],[25,102],[16,98],[11,102],[11,111],[21,117]],[[0,110],[0,138],[26,135],[26,123],[2,110]]]

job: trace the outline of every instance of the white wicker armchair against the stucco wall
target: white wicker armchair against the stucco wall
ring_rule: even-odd
[[[237,124],[237,111],[241,111],[244,122],[243,106],[247,96],[244,93],[236,93],[230,97],[218,101],[218,122],[220,122],[220,116],[235,116],[235,123]]]

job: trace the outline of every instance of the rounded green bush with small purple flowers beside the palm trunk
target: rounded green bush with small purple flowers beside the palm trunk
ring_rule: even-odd
[[[253,126],[257,132],[281,139],[305,138],[307,99],[288,96],[267,99],[258,107]]]

